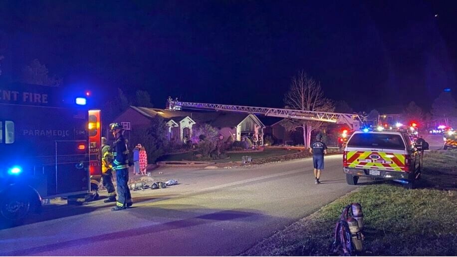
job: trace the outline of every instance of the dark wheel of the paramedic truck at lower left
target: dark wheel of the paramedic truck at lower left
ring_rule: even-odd
[[[19,223],[29,214],[30,197],[23,193],[6,194],[0,199],[0,213],[7,221]]]

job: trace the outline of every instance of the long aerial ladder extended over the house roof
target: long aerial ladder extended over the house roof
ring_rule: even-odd
[[[169,110],[179,111],[182,109],[200,109],[200,110],[215,110],[215,111],[229,111],[241,112],[249,114],[259,114],[270,117],[279,117],[287,119],[301,119],[312,121],[332,122],[336,124],[345,124],[351,130],[359,130],[362,119],[357,114],[351,113],[338,113],[338,112],[324,112],[324,111],[306,111],[306,110],[293,110],[293,109],[280,109],[268,107],[254,107],[254,106],[241,106],[217,103],[198,103],[198,102],[183,102],[178,99],[173,100],[168,98],[167,108]]]

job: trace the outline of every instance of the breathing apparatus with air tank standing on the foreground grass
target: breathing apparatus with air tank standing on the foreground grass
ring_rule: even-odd
[[[359,203],[351,203],[344,207],[336,223],[332,254],[353,256],[363,251],[363,213]]]

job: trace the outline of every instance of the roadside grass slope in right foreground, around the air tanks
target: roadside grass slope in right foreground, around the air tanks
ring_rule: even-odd
[[[365,256],[455,256],[457,254],[457,152],[431,152],[424,158],[422,188],[380,183],[357,190],[258,243],[243,255],[331,255],[335,223],[347,204],[364,213]],[[427,173],[429,172],[429,173]],[[426,174],[427,173],[427,174]],[[441,178],[446,174],[454,181]],[[454,187],[453,187],[454,185]],[[446,190],[450,189],[450,190]]]

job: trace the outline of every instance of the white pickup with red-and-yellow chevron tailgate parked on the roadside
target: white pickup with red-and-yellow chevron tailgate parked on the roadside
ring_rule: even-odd
[[[344,149],[343,171],[350,185],[365,176],[395,180],[413,188],[421,174],[419,152],[403,131],[355,131]]]

